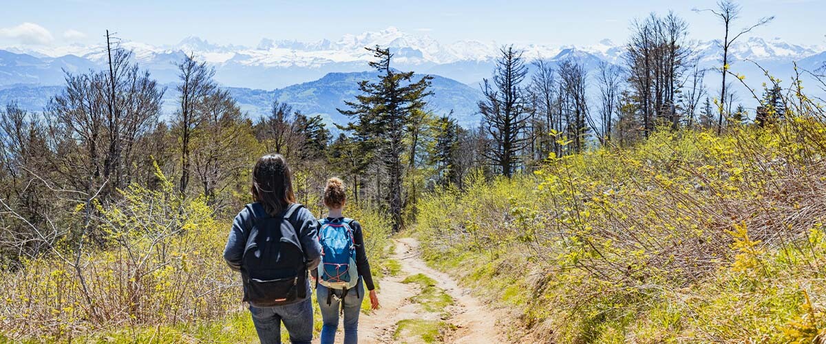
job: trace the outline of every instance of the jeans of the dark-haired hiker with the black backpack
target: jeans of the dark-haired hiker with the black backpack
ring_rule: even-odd
[[[249,306],[253,314],[255,332],[261,344],[281,344],[281,322],[290,333],[293,344],[310,344],[312,341],[312,299],[307,297],[295,304],[258,308]]]

